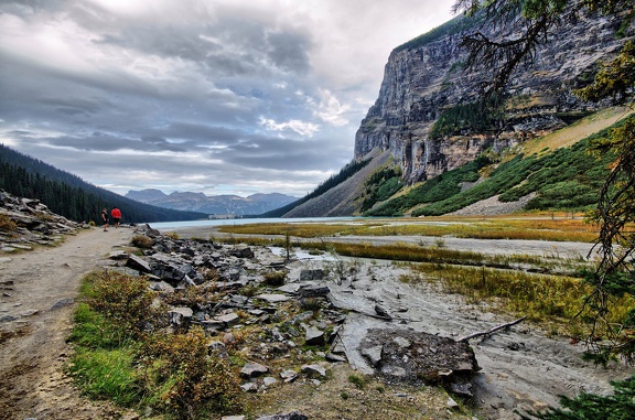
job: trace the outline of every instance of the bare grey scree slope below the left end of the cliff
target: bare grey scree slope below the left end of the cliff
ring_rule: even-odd
[[[353,176],[324,194],[302,203],[284,214],[283,217],[337,217],[358,214],[360,208],[359,197],[364,192],[366,180],[378,168],[389,163],[392,159],[388,150],[384,152],[372,151],[369,155],[373,153],[375,153],[373,160]]]

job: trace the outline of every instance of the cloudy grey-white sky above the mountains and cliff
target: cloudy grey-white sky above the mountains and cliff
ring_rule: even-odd
[[[119,194],[303,196],[454,0],[0,0],[0,142]]]

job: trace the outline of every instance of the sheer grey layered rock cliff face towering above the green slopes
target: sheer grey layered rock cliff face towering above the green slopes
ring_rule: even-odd
[[[486,149],[497,151],[566,126],[563,114],[594,107],[571,89],[592,78],[599,58],[610,60],[618,51],[617,25],[616,20],[599,15],[563,24],[537,51],[534,65],[514,74],[510,93],[519,101],[506,127],[496,133],[435,140],[429,136],[433,122],[443,109],[474,100],[487,69],[462,69],[466,55],[459,33],[396,49],[386,64],[379,97],[357,130],[355,158],[374,149],[389,150],[411,183],[463,165]]]

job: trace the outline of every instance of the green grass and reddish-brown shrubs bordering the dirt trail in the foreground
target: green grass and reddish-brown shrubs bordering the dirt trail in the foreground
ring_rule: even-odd
[[[144,278],[95,272],[82,293],[68,371],[86,395],[179,419],[240,410],[237,373],[202,331],[159,332],[165,314]]]

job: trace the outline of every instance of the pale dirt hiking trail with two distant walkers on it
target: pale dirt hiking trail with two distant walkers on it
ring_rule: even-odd
[[[132,234],[90,228],[56,247],[0,255],[0,420],[122,417],[118,408],[80,398],[63,367],[82,278]]]

